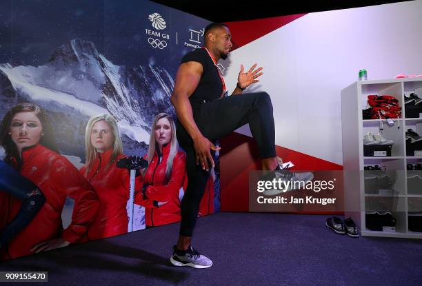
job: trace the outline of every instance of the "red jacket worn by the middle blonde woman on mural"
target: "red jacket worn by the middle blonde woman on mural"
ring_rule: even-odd
[[[130,174],[128,170],[116,167],[116,162],[123,158],[123,155],[118,156],[116,161],[108,166],[111,155],[112,149],[99,153],[86,176],[100,200],[99,212],[88,227],[90,240],[128,232],[126,204],[129,198]],[[79,170],[82,176],[85,176],[85,171],[86,166]],[[135,184],[137,189],[141,189],[141,176],[136,178]]]

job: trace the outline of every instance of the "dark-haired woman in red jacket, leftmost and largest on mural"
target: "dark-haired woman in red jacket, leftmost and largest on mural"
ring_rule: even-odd
[[[0,125],[4,160],[39,186],[46,196],[35,218],[14,236],[1,258],[16,258],[79,241],[97,214],[98,197],[68,159],[59,154],[48,117],[41,108],[21,103],[10,110]],[[61,212],[66,196],[74,199],[72,222],[63,229]],[[10,198],[8,220],[19,212],[22,201]]]

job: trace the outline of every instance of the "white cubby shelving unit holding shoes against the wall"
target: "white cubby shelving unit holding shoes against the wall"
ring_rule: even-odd
[[[356,81],[341,91],[345,217],[353,218],[363,236],[422,238],[422,232],[408,229],[408,212],[422,212],[422,185],[420,193],[419,190],[408,192],[410,171],[406,170],[409,163],[422,163],[422,156],[406,156],[405,150],[408,128],[422,135],[422,118],[405,118],[404,95],[412,92],[422,96],[422,78]],[[402,117],[393,119],[393,127],[383,121],[383,136],[394,141],[391,156],[363,156],[363,136],[369,131],[379,132],[380,120],[363,120],[362,116],[370,94],[392,95],[402,107]],[[393,172],[394,194],[365,194],[365,165],[383,165]],[[422,171],[419,172],[422,176]],[[395,232],[372,231],[365,226],[365,212],[376,210],[377,206],[392,212],[396,218]]]

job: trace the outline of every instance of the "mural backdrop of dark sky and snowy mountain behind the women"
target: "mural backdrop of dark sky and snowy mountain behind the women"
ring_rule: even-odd
[[[0,1],[0,117],[23,101],[41,106],[61,154],[79,169],[88,119],[109,113],[125,154],[142,156],[154,116],[175,118],[170,95],[179,62],[201,47],[208,23],[145,0]],[[134,229],[141,229],[143,208],[135,212]],[[68,200],[63,226],[71,213]]]

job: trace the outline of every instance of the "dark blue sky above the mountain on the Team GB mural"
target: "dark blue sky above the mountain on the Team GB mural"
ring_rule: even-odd
[[[165,23],[158,29],[154,13]],[[146,0],[3,0],[0,19],[0,63],[43,65],[60,45],[83,39],[114,64],[161,65],[172,76],[183,54],[202,45],[209,23]]]

